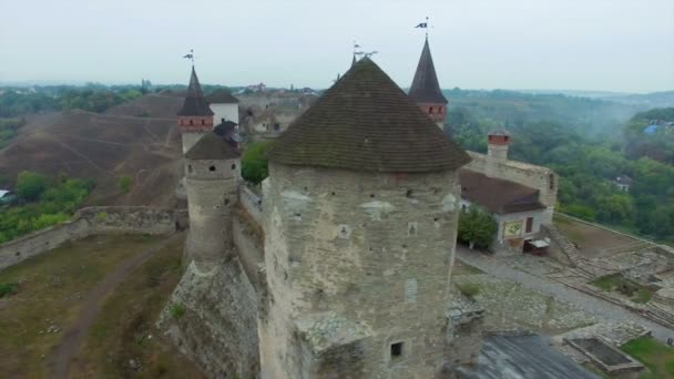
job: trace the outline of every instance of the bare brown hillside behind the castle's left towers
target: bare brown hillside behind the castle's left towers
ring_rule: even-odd
[[[90,203],[173,206],[173,191],[182,176],[174,107],[181,102],[175,96],[146,95],[106,114],[75,111],[39,117],[0,151],[0,173],[11,178],[24,170],[92,177],[96,188]],[[136,110],[164,117],[124,114]],[[121,176],[134,178],[126,194],[116,187]]]

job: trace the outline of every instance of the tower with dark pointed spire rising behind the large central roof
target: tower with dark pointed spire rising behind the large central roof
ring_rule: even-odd
[[[409,89],[409,96],[419,105],[421,112],[428,114],[440,130],[445,129],[448,101],[445,99],[438,83],[433,58],[428,47],[428,37],[426,38],[426,42],[423,42],[423,50],[421,50],[417,72],[415,72],[415,79]]]

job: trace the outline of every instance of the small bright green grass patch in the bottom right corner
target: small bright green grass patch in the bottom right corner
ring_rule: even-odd
[[[674,378],[674,348],[651,337],[640,337],[621,346],[621,350],[649,368],[640,379]]]

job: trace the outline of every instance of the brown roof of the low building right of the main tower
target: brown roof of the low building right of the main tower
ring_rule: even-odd
[[[539,191],[528,186],[489,177],[474,171],[459,171],[461,197],[487,208],[491,213],[509,214],[543,209]]]

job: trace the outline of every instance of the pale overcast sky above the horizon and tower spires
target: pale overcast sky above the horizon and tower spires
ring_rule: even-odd
[[[674,0],[0,0],[0,81],[329,86],[353,40],[408,86],[674,90]]]

